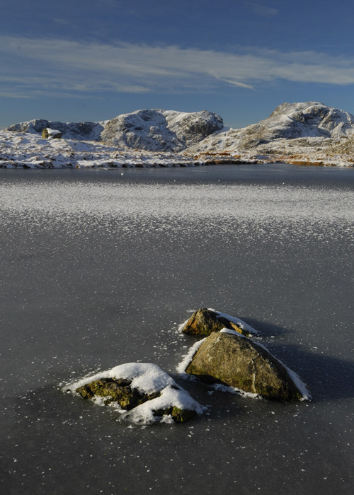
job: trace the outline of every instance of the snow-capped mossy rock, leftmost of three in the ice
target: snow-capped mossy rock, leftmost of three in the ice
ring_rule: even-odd
[[[121,364],[67,384],[62,390],[114,407],[122,418],[136,424],[187,421],[205,409],[152,363]]]

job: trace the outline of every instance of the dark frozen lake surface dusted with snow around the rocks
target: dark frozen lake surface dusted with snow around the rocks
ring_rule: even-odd
[[[1,171],[1,493],[353,494],[353,200],[336,168]],[[178,378],[200,307],[261,330],[313,401]],[[207,414],[135,426],[59,390],[130,361]]]

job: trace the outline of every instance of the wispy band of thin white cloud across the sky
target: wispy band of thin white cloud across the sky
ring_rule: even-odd
[[[237,52],[132,43],[0,36],[1,94],[219,91],[260,89],[277,79],[354,83],[354,60],[319,52],[239,47]]]

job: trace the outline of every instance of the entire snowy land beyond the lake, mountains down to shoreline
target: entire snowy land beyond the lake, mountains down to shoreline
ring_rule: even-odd
[[[42,139],[49,127],[64,139]],[[103,122],[31,120],[0,131],[0,168],[145,167],[286,162],[354,166],[354,116],[282,103],[243,129],[212,112],[138,110]]]

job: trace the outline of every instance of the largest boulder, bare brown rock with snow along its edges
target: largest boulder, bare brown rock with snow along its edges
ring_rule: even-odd
[[[291,371],[265,347],[231,330],[210,334],[185,372],[268,399],[304,399],[290,376]]]

